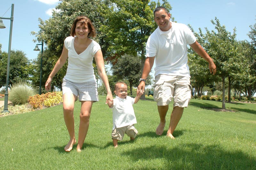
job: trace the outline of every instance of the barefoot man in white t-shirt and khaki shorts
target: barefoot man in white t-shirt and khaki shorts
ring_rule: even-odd
[[[174,101],[167,136],[174,139],[173,131],[180,121],[184,107],[191,97],[187,44],[209,63],[210,73],[216,73],[212,58],[196,41],[195,35],[184,24],[170,21],[171,14],[164,7],[157,7],[154,19],[158,27],[149,36],[146,45],[146,60],[137,93],[145,90],[145,80],[156,60],[154,100],[160,117],[156,134],[162,135],[165,116],[172,98]]]

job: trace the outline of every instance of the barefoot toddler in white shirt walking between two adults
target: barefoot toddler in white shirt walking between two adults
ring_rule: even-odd
[[[116,98],[113,102],[108,101],[108,106],[113,111],[112,140],[116,148],[117,142],[123,140],[124,134],[130,136],[131,140],[134,140],[138,134],[134,127],[137,121],[132,105],[140,100],[143,92],[141,90],[135,98],[132,98],[127,96],[127,85],[124,82],[117,82],[114,93]]]

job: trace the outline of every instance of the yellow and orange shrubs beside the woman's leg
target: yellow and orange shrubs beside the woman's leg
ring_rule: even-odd
[[[35,96],[29,97],[28,102],[34,109],[42,109],[43,107],[50,107],[56,104],[61,104],[63,102],[62,92],[48,92],[42,95],[37,94]]]

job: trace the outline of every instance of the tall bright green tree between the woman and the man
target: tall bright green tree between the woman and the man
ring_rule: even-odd
[[[108,43],[107,60],[115,65],[117,59],[124,54],[140,56],[139,70],[145,62],[145,46],[149,35],[156,29],[153,10],[160,5],[149,0],[111,0],[114,4],[105,14],[106,25],[101,25],[101,32],[106,33]],[[171,10],[167,0],[162,0],[162,6]],[[137,80],[138,81],[138,80]],[[145,98],[145,94],[141,97]]]

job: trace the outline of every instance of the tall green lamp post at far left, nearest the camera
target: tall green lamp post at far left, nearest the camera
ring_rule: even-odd
[[[8,86],[9,86],[9,70],[10,70],[11,43],[12,43],[13,9],[14,9],[14,4],[12,4],[11,18],[0,17],[0,28],[5,28],[2,19],[10,19],[10,20],[11,20],[10,34],[9,34],[9,47],[8,47],[7,69],[6,69],[6,84],[5,84],[5,93],[4,93],[4,110],[3,110],[3,112],[9,112],[9,111],[8,111]]]

